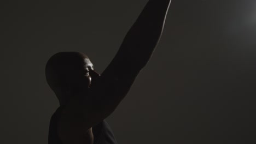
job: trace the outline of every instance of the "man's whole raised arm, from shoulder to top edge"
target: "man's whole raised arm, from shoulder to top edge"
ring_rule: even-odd
[[[62,124],[72,123],[66,128],[68,131],[80,128],[81,124],[83,129],[80,131],[89,129],[117,108],[158,44],[170,2],[171,0],[150,0],[126,34],[113,61],[99,79],[92,79],[89,94],[84,99],[74,100],[66,105]]]

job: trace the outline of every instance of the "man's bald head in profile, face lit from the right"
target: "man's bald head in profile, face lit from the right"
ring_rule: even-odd
[[[93,69],[93,65],[84,53],[59,52],[47,62],[45,75],[58,97],[88,88],[91,82],[90,69]]]

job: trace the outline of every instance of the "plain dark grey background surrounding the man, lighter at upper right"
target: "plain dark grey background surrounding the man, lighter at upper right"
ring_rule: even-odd
[[[49,57],[85,52],[101,73],[146,2],[2,2],[0,143],[47,143],[59,105],[45,81]],[[255,8],[173,0],[158,49],[107,118],[117,141],[256,143]]]

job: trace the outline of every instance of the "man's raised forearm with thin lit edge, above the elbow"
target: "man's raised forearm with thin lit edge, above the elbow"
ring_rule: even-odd
[[[161,37],[170,2],[171,0],[150,0],[147,3],[126,34],[117,57],[126,58],[124,61],[136,63],[141,68],[147,64]]]

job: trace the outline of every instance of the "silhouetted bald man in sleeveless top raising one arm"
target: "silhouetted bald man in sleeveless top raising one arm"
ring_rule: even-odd
[[[49,144],[114,144],[107,118],[129,91],[158,44],[171,0],[150,0],[100,75],[80,52],[60,52],[46,64],[49,86],[60,101],[51,117]]]

